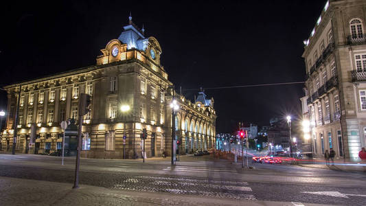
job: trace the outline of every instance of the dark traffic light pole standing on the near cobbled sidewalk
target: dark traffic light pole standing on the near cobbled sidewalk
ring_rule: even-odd
[[[82,119],[89,112],[90,95],[80,93],[79,98],[79,131],[78,131],[78,147],[76,149],[75,179],[73,181],[73,189],[79,188],[79,168],[80,168],[80,152],[82,146]]]

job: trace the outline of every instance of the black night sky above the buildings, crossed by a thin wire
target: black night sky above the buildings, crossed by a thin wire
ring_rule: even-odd
[[[100,49],[133,21],[162,49],[162,65],[193,99],[200,87],[304,81],[302,41],[325,1],[5,1],[1,85],[95,65]],[[206,89],[218,133],[237,122],[268,125],[301,114],[303,84]],[[5,108],[1,95],[0,108]]]

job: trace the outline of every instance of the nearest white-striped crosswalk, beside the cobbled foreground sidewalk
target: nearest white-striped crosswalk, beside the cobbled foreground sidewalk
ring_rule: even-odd
[[[218,179],[143,175],[115,183],[113,189],[256,200],[249,183]]]

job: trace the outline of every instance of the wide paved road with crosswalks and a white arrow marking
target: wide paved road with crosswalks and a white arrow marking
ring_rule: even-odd
[[[0,176],[73,182],[75,159],[40,155],[0,155]],[[250,201],[365,205],[366,175],[296,165],[240,163],[211,157],[140,160],[82,159],[80,183],[113,190],[183,194]]]

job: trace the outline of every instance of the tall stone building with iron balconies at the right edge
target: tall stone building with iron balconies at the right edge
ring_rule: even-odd
[[[312,152],[358,160],[366,135],[366,1],[330,0],[304,41],[304,119],[311,124]],[[306,102],[306,103],[305,103]]]

